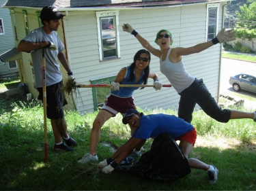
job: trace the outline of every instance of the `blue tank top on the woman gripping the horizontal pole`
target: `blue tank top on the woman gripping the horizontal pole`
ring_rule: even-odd
[[[137,82],[137,84],[143,84],[143,77],[144,77],[144,71],[143,73],[141,74],[141,77],[139,77],[139,80]],[[130,79],[130,66],[129,67],[126,67],[126,75],[124,77],[124,80],[123,82],[121,82],[120,84],[136,84],[135,83],[135,77],[134,77],[134,80],[131,82],[131,81],[128,81]],[[132,94],[134,92],[134,90],[137,90],[139,88],[119,88],[118,91],[113,91],[111,90],[110,93],[117,96],[117,97],[132,97]]]

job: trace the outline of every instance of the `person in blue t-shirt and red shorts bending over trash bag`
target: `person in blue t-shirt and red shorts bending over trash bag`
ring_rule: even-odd
[[[149,138],[156,138],[161,133],[168,133],[175,140],[179,140],[179,147],[188,159],[190,168],[207,171],[209,183],[215,184],[218,178],[218,169],[213,165],[205,164],[196,158],[188,158],[197,139],[197,131],[192,124],[185,122],[182,118],[167,114],[152,114],[144,116],[136,109],[128,109],[124,114],[122,122],[135,127],[132,137],[119,147],[111,156],[98,164],[102,173],[111,173],[117,165],[122,162],[135,147],[141,147]]]

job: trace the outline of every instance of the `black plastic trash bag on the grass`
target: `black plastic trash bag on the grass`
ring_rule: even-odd
[[[150,150],[142,154],[139,161],[128,156],[117,166],[117,171],[137,173],[163,181],[180,179],[191,172],[188,160],[176,141],[167,133],[158,135]]]

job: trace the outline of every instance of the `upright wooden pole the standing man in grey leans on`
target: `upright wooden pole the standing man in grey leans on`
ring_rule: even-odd
[[[44,48],[42,48],[42,86],[44,104],[44,159],[48,162],[48,142],[47,142],[47,113],[46,113],[46,70],[45,70]]]

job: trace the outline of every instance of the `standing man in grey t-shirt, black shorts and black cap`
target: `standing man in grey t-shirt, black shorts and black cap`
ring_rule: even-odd
[[[57,35],[59,20],[65,16],[58,12],[56,7],[46,6],[42,9],[40,18],[43,27],[34,29],[20,41],[18,50],[20,52],[30,52],[33,60],[33,71],[35,74],[35,87],[38,88],[38,100],[42,100],[42,48],[45,49],[46,65],[46,97],[47,97],[47,118],[51,119],[51,126],[55,137],[55,150],[74,151],[72,146],[76,146],[76,141],[67,133],[67,124],[64,118],[63,105],[66,99],[61,90],[63,85],[60,65],[68,72],[68,79],[74,79],[70,66],[63,54],[64,46]],[[63,143],[62,141],[65,141]]]

